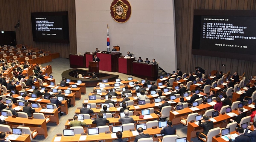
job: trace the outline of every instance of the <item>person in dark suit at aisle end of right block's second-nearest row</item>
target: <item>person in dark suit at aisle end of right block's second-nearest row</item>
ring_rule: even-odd
[[[204,120],[203,123],[201,123],[202,120]],[[209,117],[208,117],[207,115],[204,115],[204,117],[202,117],[202,118],[199,120],[198,125],[199,125],[200,127],[203,127],[204,130],[203,130],[202,133],[203,133],[204,135],[207,135],[208,132],[209,132],[209,130],[213,129],[213,122],[212,122],[212,121],[209,121]],[[197,138],[198,138],[199,141],[203,142],[203,141],[199,138],[199,134],[200,134],[200,132],[197,132],[197,133],[196,133]],[[204,135],[201,135],[201,134],[200,134],[200,137],[201,137],[201,138],[205,138]]]

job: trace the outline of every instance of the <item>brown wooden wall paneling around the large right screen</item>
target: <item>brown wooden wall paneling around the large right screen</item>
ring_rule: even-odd
[[[192,55],[192,33],[194,9],[256,10],[255,0],[175,0],[175,26],[177,43],[177,67],[182,72],[195,71],[195,66],[211,70],[222,70],[239,75],[245,72],[246,79],[256,75],[256,62],[230,58]],[[222,64],[226,64],[225,67]]]

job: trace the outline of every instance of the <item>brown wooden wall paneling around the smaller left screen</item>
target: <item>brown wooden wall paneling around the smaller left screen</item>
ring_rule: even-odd
[[[59,52],[63,58],[76,54],[75,0],[0,0],[0,31],[16,30],[17,44],[27,44],[45,51]],[[31,12],[69,12],[69,44],[33,42]],[[20,28],[14,28],[20,21]],[[50,46],[50,48],[48,48]]]

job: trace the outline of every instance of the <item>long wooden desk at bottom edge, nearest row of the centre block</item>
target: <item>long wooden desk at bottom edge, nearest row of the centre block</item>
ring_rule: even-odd
[[[143,133],[149,134],[149,135],[155,135],[159,134],[161,131],[161,128],[152,129],[148,128],[147,130],[143,130]],[[122,138],[128,138],[129,141],[134,141],[136,135],[133,135],[133,132],[130,132],[129,130],[123,131]],[[61,136],[60,141],[54,141],[55,138],[58,136],[55,136],[52,139],[52,142],[89,142],[89,141],[105,141],[105,142],[112,142],[114,139],[112,138],[111,134],[105,134],[105,133],[99,133],[99,135],[87,135],[86,139],[80,140],[81,134],[76,134],[75,136]],[[160,138],[160,137],[159,137]],[[154,141],[157,141],[158,138],[153,138]]]

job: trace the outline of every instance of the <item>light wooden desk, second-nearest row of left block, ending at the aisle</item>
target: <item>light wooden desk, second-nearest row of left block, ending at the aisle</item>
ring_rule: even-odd
[[[21,117],[8,117],[5,120],[7,124],[10,127],[17,128],[20,126],[20,124],[23,124],[25,127],[29,127],[31,131],[34,131],[37,129],[38,135],[44,135],[44,138],[47,138],[48,133],[47,133],[47,127],[46,127],[46,120],[43,119],[32,119],[29,120],[27,118],[21,118]],[[41,126],[41,127],[38,127]]]

